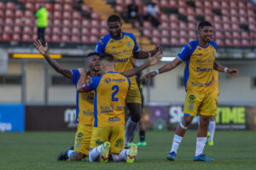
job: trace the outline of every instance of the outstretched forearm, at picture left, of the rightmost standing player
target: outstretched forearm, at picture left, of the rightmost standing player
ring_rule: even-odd
[[[177,65],[180,65],[182,61],[178,58],[173,59],[171,62],[167,63],[160,69],[157,69],[155,71],[151,71],[146,75],[147,80],[149,81],[152,77],[155,77],[156,75],[166,72],[166,71],[172,71],[172,69],[176,68]]]

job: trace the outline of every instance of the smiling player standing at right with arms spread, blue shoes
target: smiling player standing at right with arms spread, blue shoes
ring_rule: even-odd
[[[183,136],[192,122],[194,116],[200,115],[200,126],[197,131],[194,161],[212,161],[212,158],[203,154],[207,142],[207,127],[210,116],[215,115],[216,102],[213,92],[213,70],[226,72],[232,76],[238,75],[237,69],[230,69],[219,65],[215,61],[217,45],[212,39],[212,25],[208,21],[201,21],[198,26],[199,39],[183,46],[176,59],[162,68],[148,73],[148,80],[157,74],[172,71],[183,61],[186,62],[184,70],[184,84],[186,96],[184,102],[183,121],[177,127],[172,142],[172,149],[167,159],[174,161],[177,149]]]

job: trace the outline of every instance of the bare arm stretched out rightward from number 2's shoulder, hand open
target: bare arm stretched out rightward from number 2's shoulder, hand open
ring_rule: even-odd
[[[159,63],[160,59],[162,59],[162,56],[161,56],[160,52],[158,52],[153,57],[148,57],[147,62],[145,62],[143,65],[135,67],[129,71],[121,72],[121,74],[124,75],[125,77],[132,77],[134,75],[137,75],[138,72],[143,71],[144,69],[148,68],[148,66],[155,65],[155,64]]]

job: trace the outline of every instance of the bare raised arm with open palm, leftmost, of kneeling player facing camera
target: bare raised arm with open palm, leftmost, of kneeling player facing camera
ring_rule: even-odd
[[[43,46],[42,42],[39,40],[34,42],[34,46],[38,49],[38,52],[42,55],[44,55],[44,58],[47,60],[49,65],[51,65],[55,71],[61,73],[64,77],[72,78],[72,71],[70,69],[67,69],[66,67],[60,65],[58,62],[55,61],[55,59],[51,59],[48,51],[48,43],[46,42],[45,47]]]

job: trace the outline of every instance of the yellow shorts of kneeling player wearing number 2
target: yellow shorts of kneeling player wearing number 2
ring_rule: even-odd
[[[90,141],[90,150],[110,142],[110,153],[119,154],[125,149],[125,125],[114,127],[93,127]]]

